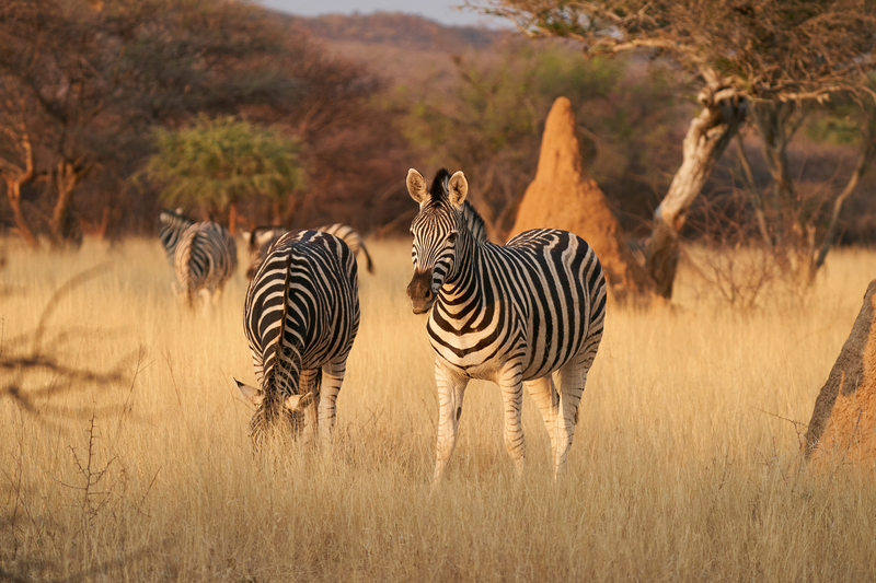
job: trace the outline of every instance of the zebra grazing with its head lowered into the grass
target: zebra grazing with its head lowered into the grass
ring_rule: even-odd
[[[359,329],[350,248],[319,231],[284,234],[250,281],[243,326],[258,387],[234,382],[255,405],[254,447],[278,424],[296,435],[302,409],[304,441],[319,430],[320,441],[330,442],[335,400]]]

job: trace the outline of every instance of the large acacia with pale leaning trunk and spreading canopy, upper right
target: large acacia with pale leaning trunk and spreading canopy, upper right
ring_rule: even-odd
[[[654,212],[647,254],[647,270],[667,298],[678,232],[750,110],[764,137],[776,199],[793,205],[788,120],[804,102],[867,93],[866,73],[876,66],[869,56],[876,3],[869,0],[489,0],[468,5],[510,19],[532,37],[578,39],[588,56],[634,49],[665,55],[700,80],[703,108],[691,121],[682,164]]]

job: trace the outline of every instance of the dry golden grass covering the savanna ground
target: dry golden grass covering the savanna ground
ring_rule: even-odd
[[[872,475],[812,476],[798,455],[875,253],[837,250],[808,293],[775,284],[746,310],[690,268],[672,310],[610,305],[565,476],[551,482],[527,396],[515,479],[498,389],[474,383],[430,499],[438,410],[408,246],[369,248],[334,446],[254,458],[230,380],[254,381],[242,269],[192,314],[158,241],[7,244],[0,580],[876,578]]]

